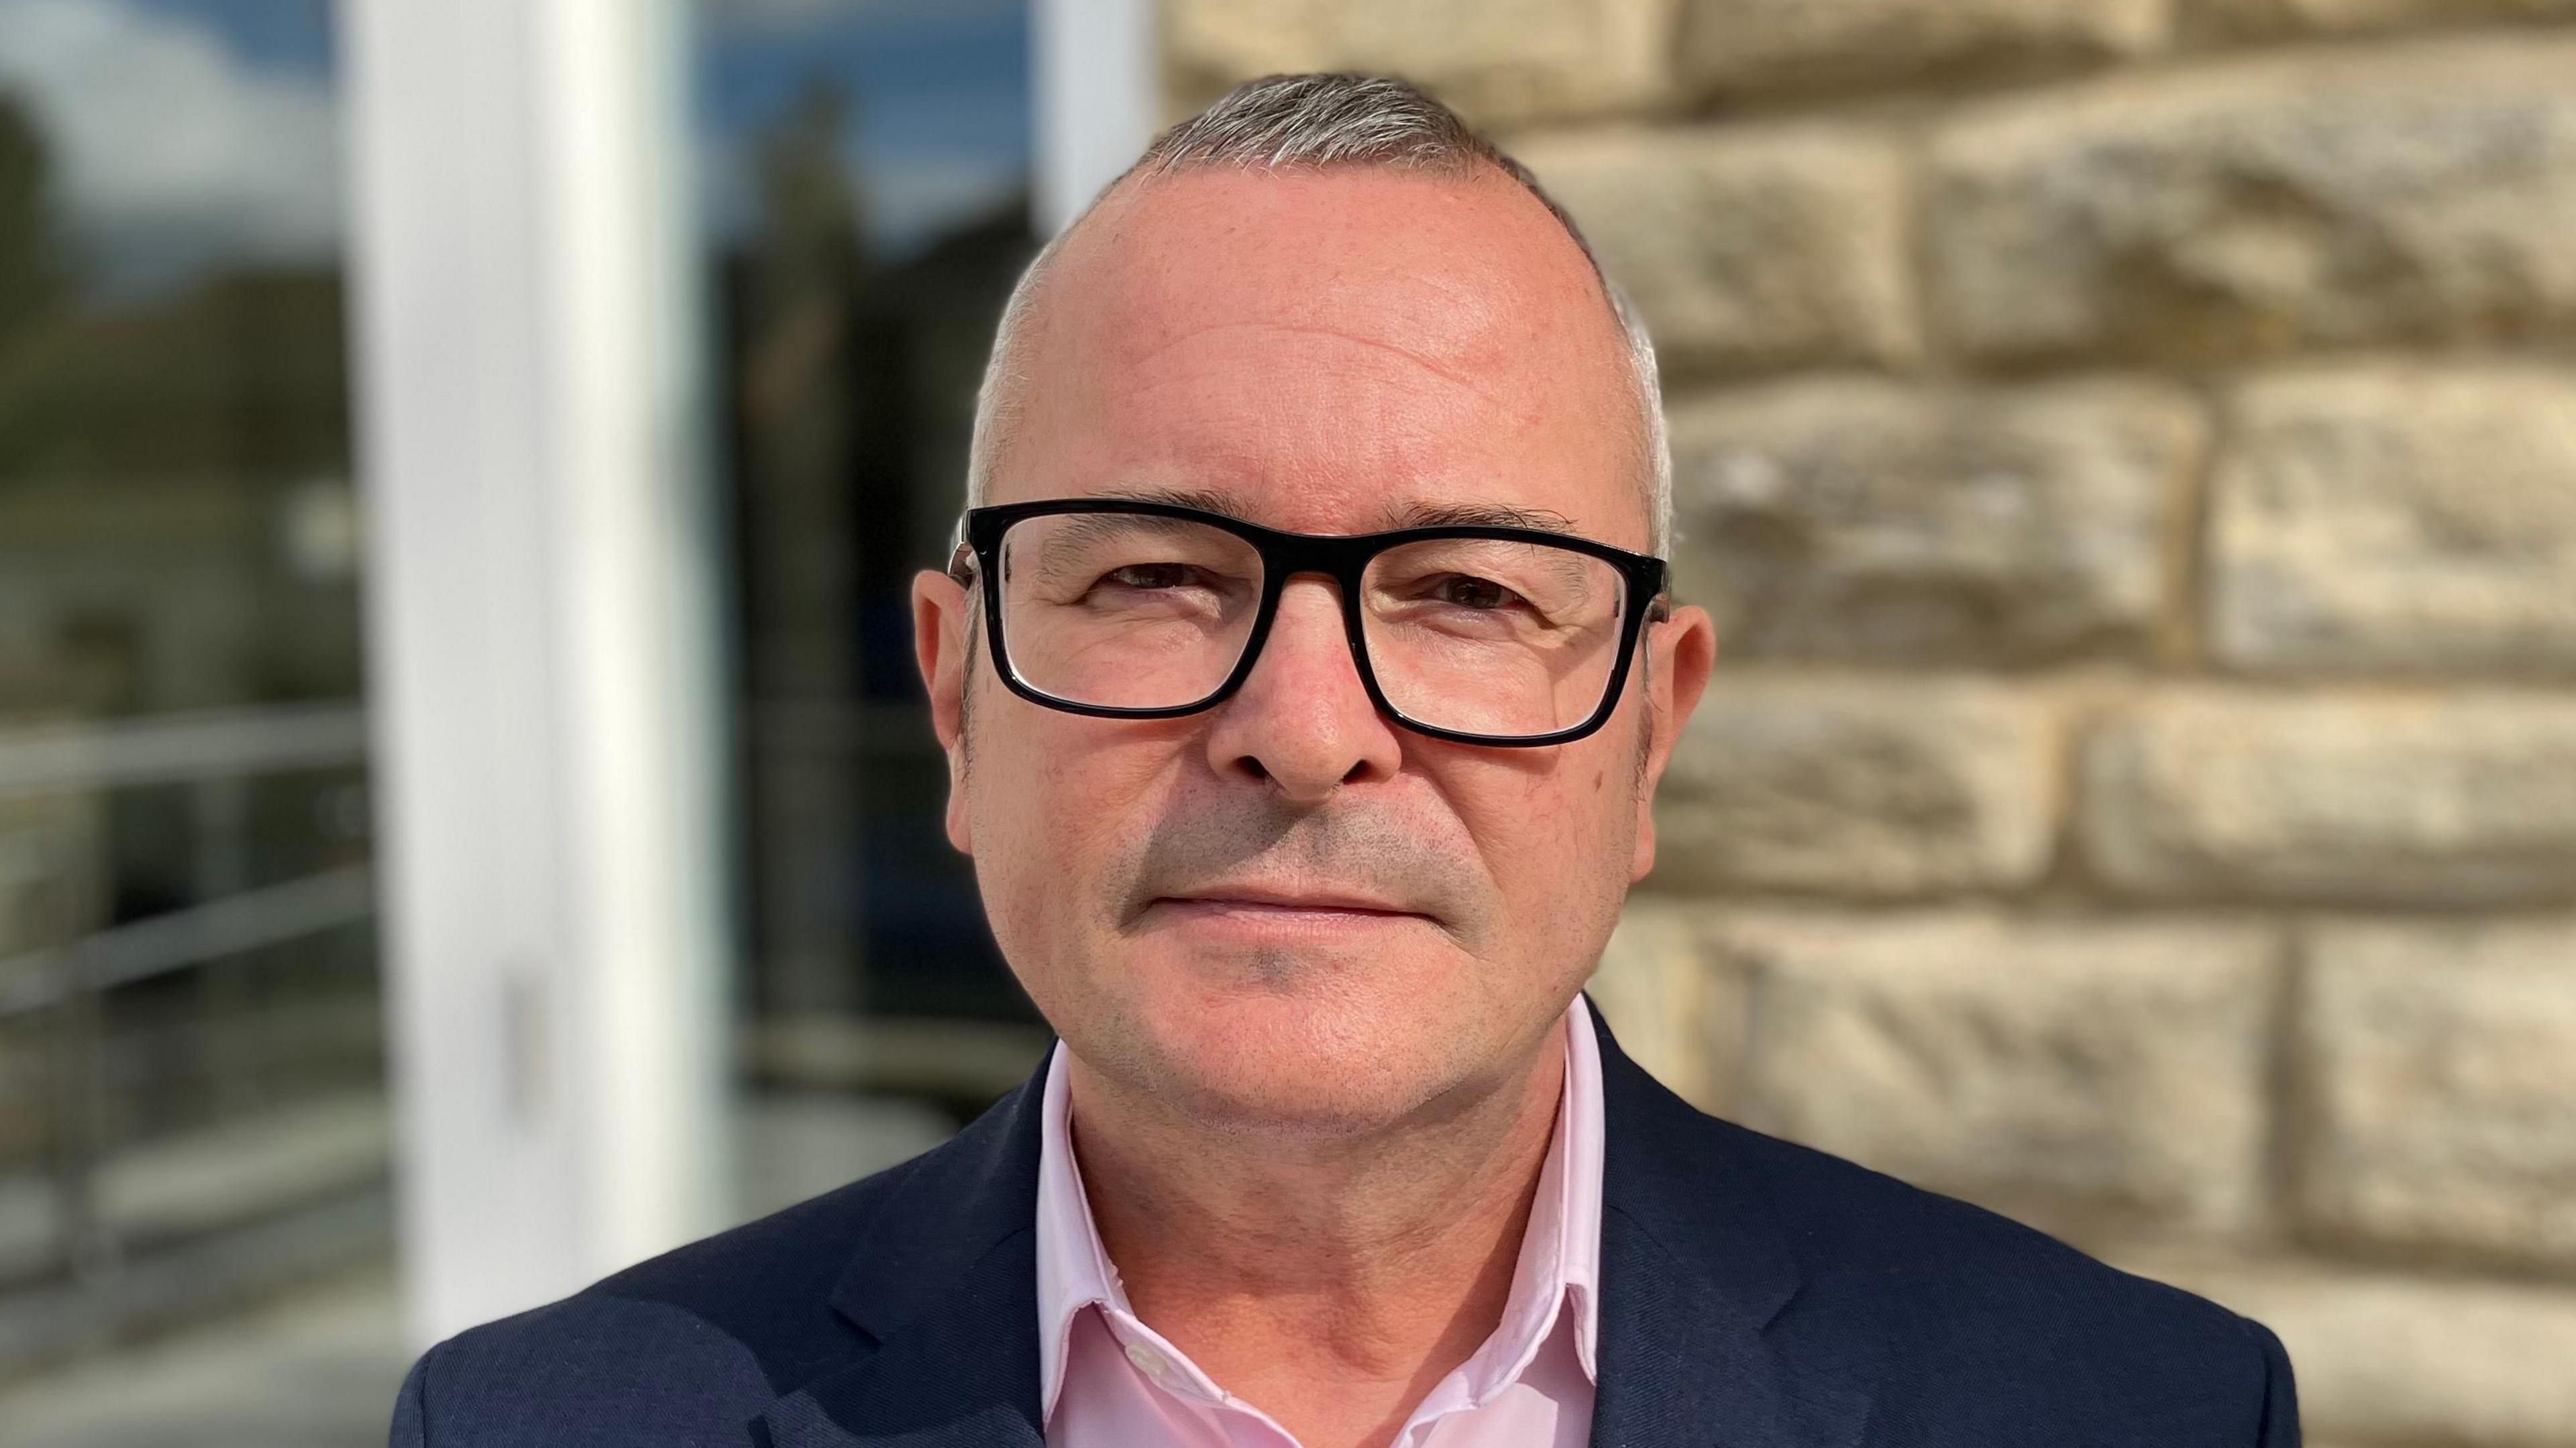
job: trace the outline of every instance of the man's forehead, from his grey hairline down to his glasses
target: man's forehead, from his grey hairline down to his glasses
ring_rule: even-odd
[[[1499,173],[1188,173],[1066,240],[992,502],[1188,490],[1306,533],[1517,508],[1646,544],[1582,250]]]

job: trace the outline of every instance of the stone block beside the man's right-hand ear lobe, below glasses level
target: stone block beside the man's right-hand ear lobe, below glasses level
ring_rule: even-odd
[[[1968,680],[1721,675],[1656,799],[1656,889],[1909,897],[2048,873],[2045,698]]]

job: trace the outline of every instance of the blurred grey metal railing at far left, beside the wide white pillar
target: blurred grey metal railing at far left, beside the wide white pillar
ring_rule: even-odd
[[[95,1283],[124,1262],[116,1224],[100,1206],[108,1149],[103,997],[366,922],[374,915],[368,863],[250,884],[250,781],[363,765],[366,716],[350,703],[0,732],[0,804],[155,786],[175,786],[188,799],[193,904],[0,958],[0,1025],[36,1023],[49,1043],[52,1234],[57,1265],[75,1281]]]

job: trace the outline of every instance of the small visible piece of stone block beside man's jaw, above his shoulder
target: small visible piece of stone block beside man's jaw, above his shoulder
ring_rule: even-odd
[[[1708,904],[1636,897],[1584,987],[1628,1059],[1700,1110],[1734,1105],[1744,976],[1718,969]]]

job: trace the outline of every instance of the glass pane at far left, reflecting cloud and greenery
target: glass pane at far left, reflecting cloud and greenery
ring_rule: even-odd
[[[384,1250],[340,255],[327,0],[0,0],[0,1378]]]

